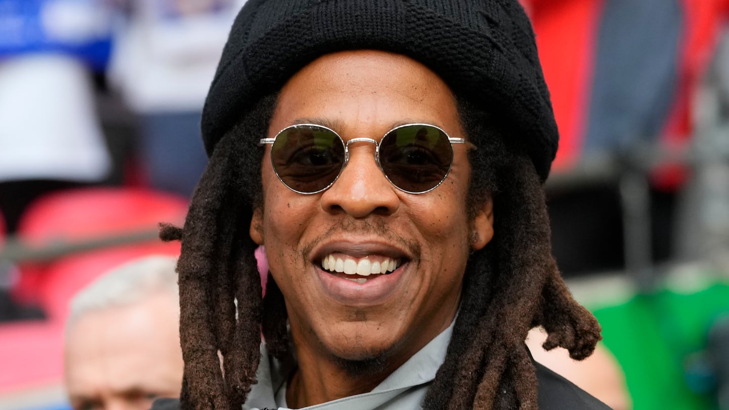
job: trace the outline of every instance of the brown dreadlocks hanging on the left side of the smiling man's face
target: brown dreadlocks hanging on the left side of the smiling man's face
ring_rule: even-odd
[[[262,187],[260,150],[251,136],[265,134],[275,101],[262,98],[222,137],[192,194],[184,228],[161,227],[162,239],[182,240],[182,409],[240,409],[256,382],[263,302],[248,226]]]

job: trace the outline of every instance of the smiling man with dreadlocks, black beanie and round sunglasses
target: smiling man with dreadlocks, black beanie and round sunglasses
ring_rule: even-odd
[[[161,232],[182,409],[605,408],[524,344],[586,357],[599,325],[550,255],[557,130],[517,1],[249,1],[202,127]]]

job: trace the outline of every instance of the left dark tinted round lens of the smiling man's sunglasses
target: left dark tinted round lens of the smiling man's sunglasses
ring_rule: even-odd
[[[286,186],[301,193],[315,193],[337,179],[344,163],[344,144],[327,128],[295,125],[276,136],[271,163]]]

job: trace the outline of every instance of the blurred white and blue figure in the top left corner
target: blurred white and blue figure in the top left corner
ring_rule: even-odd
[[[96,0],[0,0],[0,213],[9,233],[36,197],[109,173],[91,75],[109,49],[109,9]]]

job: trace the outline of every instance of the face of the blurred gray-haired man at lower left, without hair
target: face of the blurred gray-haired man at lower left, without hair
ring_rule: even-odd
[[[160,293],[79,317],[66,335],[66,390],[75,410],[147,410],[179,397],[176,301]]]

